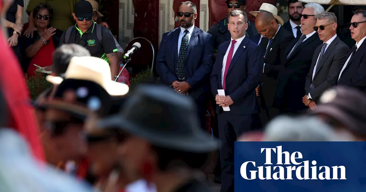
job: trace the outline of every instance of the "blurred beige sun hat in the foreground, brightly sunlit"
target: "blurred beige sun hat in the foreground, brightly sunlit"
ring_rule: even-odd
[[[129,90],[127,84],[112,80],[111,69],[107,61],[98,57],[72,57],[64,78],[89,80],[99,84],[112,96],[126,95]],[[61,84],[64,78],[52,75],[46,76],[46,80],[55,85]]]

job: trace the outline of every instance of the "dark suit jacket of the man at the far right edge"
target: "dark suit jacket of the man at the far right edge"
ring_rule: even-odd
[[[350,50],[348,57],[354,51],[356,46]],[[359,90],[366,91],[366,40],[357,49],[355,55],[348,62],[347,67],[341,74],[338,84],[356,87]]]

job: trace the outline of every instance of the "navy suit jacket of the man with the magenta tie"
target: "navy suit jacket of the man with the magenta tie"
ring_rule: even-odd
[[[230,45],[226,41],[219,46],[215,64],[211,75],[211,87],[213,95],[221,85],[221,69],[223,60]],[[259,105],[255,88],[261,81],[263,70],[263,52],[259,45],[255,44],[248,37],[245,37],[232,57],[227,75],[225,94],[230,95],[234,104],[230,105],[232,114],[255,114],[259,113]],[[216,113],[220,113],[222,107],[216,106]]]

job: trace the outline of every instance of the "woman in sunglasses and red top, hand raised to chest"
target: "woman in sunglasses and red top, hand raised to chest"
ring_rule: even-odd
[[[23,36],[23,66],[26,67],[28,76],[35,76],[39,67],[51,71],[51,67],[47,66],[52,64],[52,53],[59,47],[62,35],[61,30],[50,27],[53,8],[49,4],[37,4],[32,16],[37,30],[33,37]]]

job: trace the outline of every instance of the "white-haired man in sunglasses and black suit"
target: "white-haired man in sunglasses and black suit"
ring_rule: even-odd
[[[318,33],[314,31],[314,15],[322,12],[324,8],[320,4],[305,5],[301,18],[303,35],[294,39],[285,51],[287,62],[279,72],[275,96],[275,106],[280,109],[280,113],[294,114],[306,109],[302,103],[305,79],[310,70],[314,50],[322,44]]]

